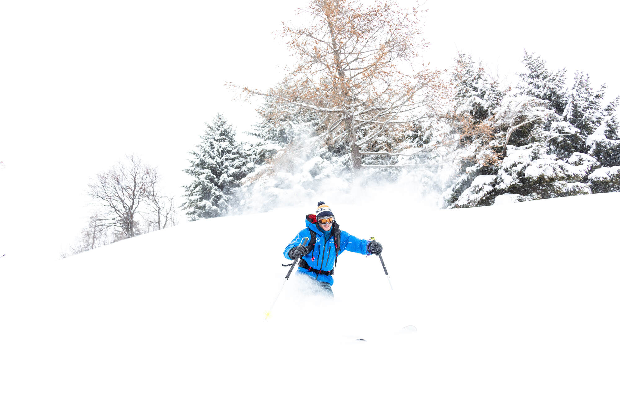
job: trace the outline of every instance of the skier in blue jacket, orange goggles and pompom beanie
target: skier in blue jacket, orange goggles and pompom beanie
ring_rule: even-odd
[[[307,245],[301,245],[304,237],[309,238]],[[309,277],[313,293],[333,297],[332,274],[338,255],[344,251],[365,255],[381,254],[383,247],[379,242],[359,239],[341,231],[331,208],[319,202],[316,215],[306,215],[306,228],[299,231],[286,246],[284,256],[290,260],[299,257],[297,273]]]

